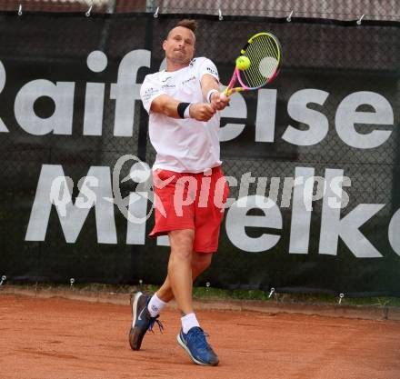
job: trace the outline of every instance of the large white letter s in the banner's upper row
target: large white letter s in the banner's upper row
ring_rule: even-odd
[[[328,133],[329,123],[325,115],[307,108],[307,104],[324,105],[329,93],[316,89],[304,89],[292,95],[287,104],[287,113],[299,123],[309,126],[308,130],[298,130],[289,125],[282,139],[293,145],[309,146],[321,142]]]

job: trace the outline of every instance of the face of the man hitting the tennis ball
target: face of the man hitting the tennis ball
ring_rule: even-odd
[[[176,26],[163,43],[165,56],[178,65],[189,63],[195,54],[195,35],[186,27]]]

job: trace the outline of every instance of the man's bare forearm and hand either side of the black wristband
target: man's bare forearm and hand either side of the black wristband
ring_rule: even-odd
[[[150,110],[168,117],[181,118],[177,111],[179,103],[170,95],[163,94],[155,97]],[[189,115],[197,121],[208,121],[215,115],[215,108],[207,103],[193,103],[190,105]]]

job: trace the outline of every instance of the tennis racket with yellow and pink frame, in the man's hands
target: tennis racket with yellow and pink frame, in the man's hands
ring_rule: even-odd
[[[224,91],[227,96],[270,84],[281,66],[281,45],[270,33],[253,35],[240,54],[236,59],[234,75]],[[236,81],[240,86],[234,87]]]

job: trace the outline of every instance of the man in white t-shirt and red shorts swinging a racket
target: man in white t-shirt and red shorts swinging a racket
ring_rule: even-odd
[[[192,304],[193,280],[211,263],[217,250],[228,186],[221,171],[219,111],[229,103],[220,94],[218,72],[209,59],[193,58],[194,20],[179,22],[167,35],[166,70],[146,75],[140,95],[149,114],[149,135],[155,147],[155,228],[171,245],[165,283],[153,296],[131,299],[132,349],[139,350],[147,330],[175,297],[182,329],[178,343],[196,364],[216,365]],[[158,204],[157,204],[158,202]]]

